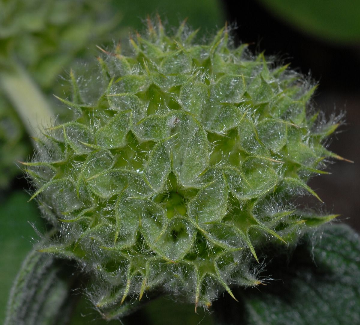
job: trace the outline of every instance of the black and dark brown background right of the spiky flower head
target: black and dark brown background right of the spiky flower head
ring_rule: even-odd
[[[339,220],[360,232],[360,44],[339,44],[309,35],[257,1],[222,2],[228,21],[237,23],[237,42],[252,43],[253,52],[265,50],[319,81],[314,100],[327,116],[346,112],[346,123],[332,136],[329,149],[354,163],[335,161],[327,168],[331,175],[314,177],[309,185],[325,203],[307,198],[305,204],[340,214]]]

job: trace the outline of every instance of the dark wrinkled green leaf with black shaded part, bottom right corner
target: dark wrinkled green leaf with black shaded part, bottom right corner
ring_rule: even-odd
[[[360,323],[360,238],[350,227],[328,225],[305,235],[289,260],[273,257],[266,270],[263,276],[281,281],[234,292],[243,301],[222,302],[231,312],[219,324]]]

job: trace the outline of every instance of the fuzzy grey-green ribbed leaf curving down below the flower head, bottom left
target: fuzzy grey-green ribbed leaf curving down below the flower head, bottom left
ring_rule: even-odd
[[[24,260],[15,279],[5,325],[60,325],[70,318],[71,281],[60,277],[61,263],[36,247]],[[31,303],[29,303],[31,302]]]

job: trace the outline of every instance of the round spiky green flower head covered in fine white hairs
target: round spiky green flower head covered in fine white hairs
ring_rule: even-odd
[[[102,50],[91,78],[71,72],[62,102],[75,118],[48,128],[25,164],[59,228],[42,251],[76,259],[109,318],[154,290],[209,306],[258,285],[257,248],[334,217],[292,203],[317,197],[306,182],[336,157],[315,86],[235,47],[226,27],[207,44],[195,35],[149,23],[127,53]]]

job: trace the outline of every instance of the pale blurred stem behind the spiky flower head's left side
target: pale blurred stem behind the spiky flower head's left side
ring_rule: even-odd
[[[29,135],[36,137],[50,125],[54,113],[39,87],[25,69],[14,65],[0,72],[0,86],[14,105]]]

